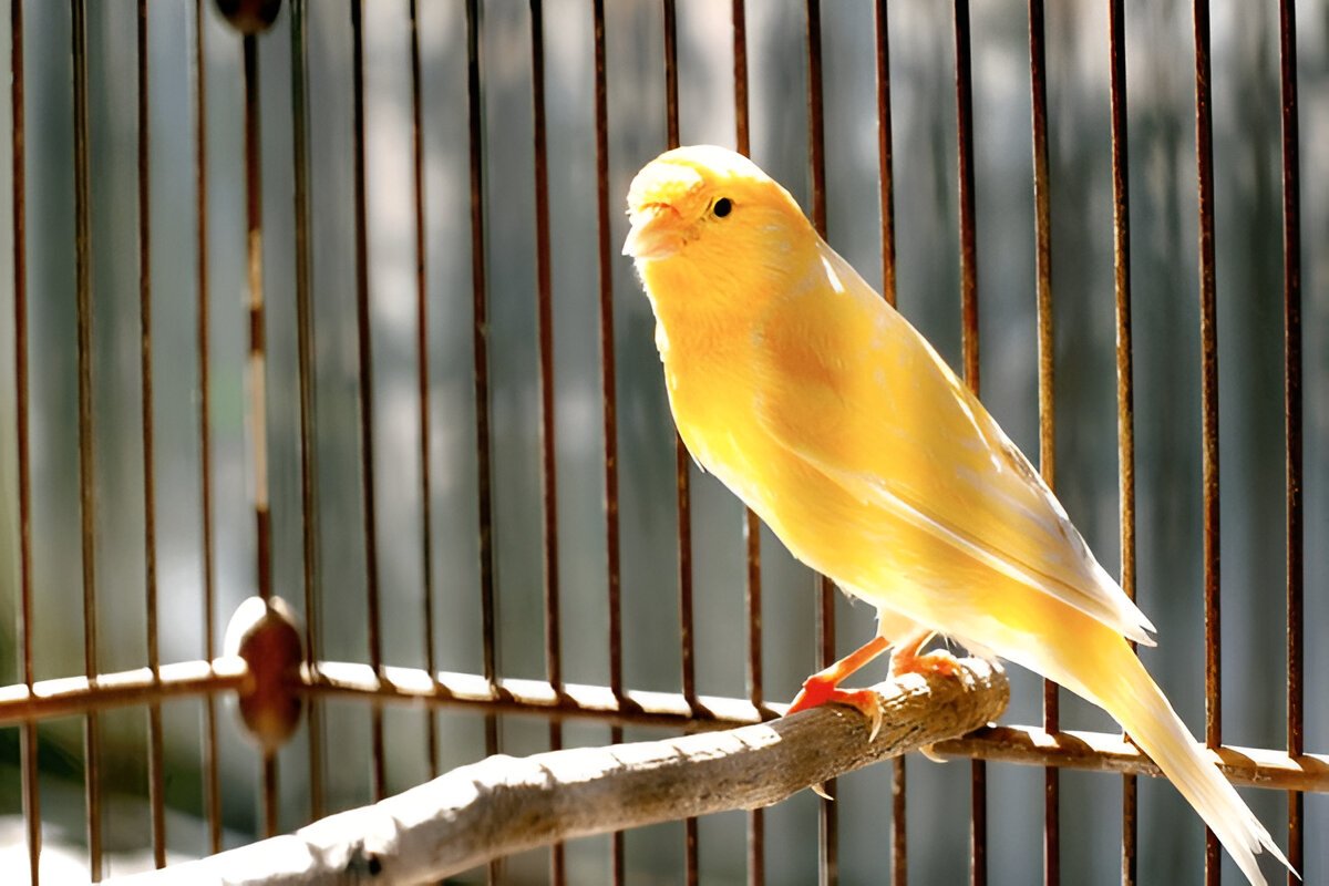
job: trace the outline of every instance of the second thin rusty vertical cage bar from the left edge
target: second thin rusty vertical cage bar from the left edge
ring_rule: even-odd
[[[92,183],[88,158],[88,21],[85,0],[70,0],[74,104],[74,279],[78,349],[78,510],[82,534],[84,671],[97,675],[97,543],[92,410]],[[101,879],[101,729],[84,719],[89,878]]]

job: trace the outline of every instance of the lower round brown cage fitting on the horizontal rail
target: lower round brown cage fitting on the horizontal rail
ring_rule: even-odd
[[[226,655],[246,665],[238,691],[241,720],[264,752],[275,752],[295,732],[304,708],[299,618],[279,596],[251,596],[235,608],[225,646]]]

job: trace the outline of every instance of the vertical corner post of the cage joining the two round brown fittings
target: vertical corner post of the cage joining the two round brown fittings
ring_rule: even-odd
[[[250,436],[254,457],[254,531],[258,592],[272,596],[272,519],[267,495],[267,343],[263,308],[263,157],[259,133],[258,39],[245,35],[245,195],[249,267]],[[278,833],[276,757],[263,753],[263,832]]]

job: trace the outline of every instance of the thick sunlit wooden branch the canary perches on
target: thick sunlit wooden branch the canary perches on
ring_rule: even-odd
[[[841,705],[723,732],[532,757],[493,756],[372,806],[153,874],[181,883],[416,883],[613,830],[767,806],[886,757],[975,729],[1005,709],[1001,668],[904,675],[873,689],[881,731]]]

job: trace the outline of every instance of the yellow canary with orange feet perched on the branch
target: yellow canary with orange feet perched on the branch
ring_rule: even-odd
[[[696,464],[812,569],[877,610],[877,635],[804,683],[844,701],[885,650],[949,669],[933,635],[1055,680],[1111,713],[1252,883],[1286,859],[1200,753],[1127,640],[1154,626],[978,399],[755,163],[661,154],[627,194],[670,408]]]

